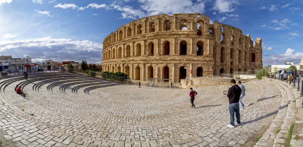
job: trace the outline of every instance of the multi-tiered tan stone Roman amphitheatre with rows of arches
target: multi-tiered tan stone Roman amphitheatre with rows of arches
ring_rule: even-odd
[[[254,45],[241,29],[210,24],[201,13],[142,18],[120,27],[103,44],[104,71],[125,72],[132,80],[178,83],[262,67],[261,38]]]

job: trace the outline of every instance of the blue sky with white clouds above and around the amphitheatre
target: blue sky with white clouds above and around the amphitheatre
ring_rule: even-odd
[[[299,0],[0,0],[0,55],[101,63],[104,38],[133,20],[201,12],[263,40],[263,65],[303,54]]]

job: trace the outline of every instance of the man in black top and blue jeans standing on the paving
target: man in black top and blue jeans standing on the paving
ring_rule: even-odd
[[[235,127],[235,112],[237,118],[237,124],[240,125],[240,111],[239,111],[239,99],[241,95],[241,88],[236,85],[236,81],[232,79],[230,81],[231,88],[228,89],[227,97],[229,99],[229,114],[230,114],[230,124],[228,127]]]

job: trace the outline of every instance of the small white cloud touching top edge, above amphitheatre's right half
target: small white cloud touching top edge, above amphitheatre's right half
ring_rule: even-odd
[[[239,5],[236,0],[216,0],[214,9],[218,10],[219,13],[233,12]]]

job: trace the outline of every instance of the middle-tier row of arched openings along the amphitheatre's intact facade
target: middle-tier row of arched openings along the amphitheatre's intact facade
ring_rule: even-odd
[[[141,43],[137,43],[135,45],[135,56],[140,56],[142,55],[141,53]],[[170,55],[170,47],[171,43],[169,41],[163,41],[163,45],[162,45],[162,55]],[[155,44],[154,42],[149,42],[148,46],[147,46],[147,50],[146,50],[146,54],[149,56],[153,56],[155,55]],[[105,50],[103,52],[103,57],[104,59],[114,59],[114,58],[122,58],[122,52],[124,50],[122,49],[122,47],[118,48],[118,55],[116,56],[116,50],[112,49],[111,50]],[[143,51],[144,52],[144,51]],[[130,53],[131,53],[131,47],[130,45],[126,46],[126,50],[125,50],[125,57],[130,57]],[[185,40],[180,41],[180,45],[179,45],[179,55],[187,55],[187,42]],[[198,41],[196,43],[196,55],[197,56],[203,56],[204,55],[204,42],[203,41]]]

